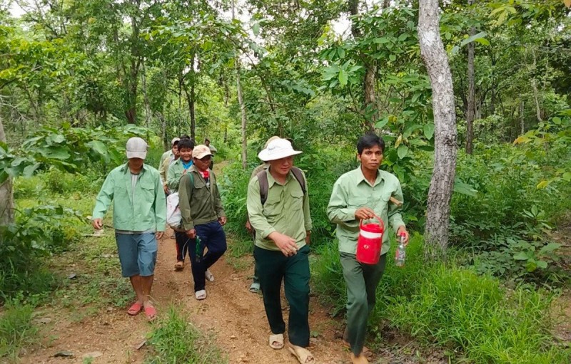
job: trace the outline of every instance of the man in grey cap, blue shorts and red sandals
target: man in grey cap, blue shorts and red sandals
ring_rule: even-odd
[[[96,198],[92,224],[103,227],[103,215],[113,202],[113,227],[121,261],[121,273],[129,277],[137,301],[128,309],[131,316],[145,311],[156,318],[150,300],[156,263],[157,239],[166,224],[166,201],[158,171],[144,163],[147,143],[140,137],[127,141],[128,162],[113,169]]]

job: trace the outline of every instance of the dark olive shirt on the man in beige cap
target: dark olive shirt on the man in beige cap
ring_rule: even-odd
[[[181,177],[178,186],[178,206],[181,208],[183,229],[187,231],[194,229],[195,225],[214,222],[219,217],[226,216],[216,184],[216,175],[212,171],[209,172],[210,187],[206,186],[206,181],[195,165],[188,168],[186,175]]]

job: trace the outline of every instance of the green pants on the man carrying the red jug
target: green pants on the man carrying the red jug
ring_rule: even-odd
[[[375,308],[377,286],[385,271],[387,254],[374,265],[362,264],[355,254],[340,253],[343,277],[347,286],[347,328],[353,354],[359,355],[365,345],[367,320]]]

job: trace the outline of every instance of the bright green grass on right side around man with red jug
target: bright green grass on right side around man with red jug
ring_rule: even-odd
[[[447,264],[425,263],[422,243],[421,236],[411,239],[403,269],[390,259],[393,251],[388,253],[371,332],[388,324],[423,345],[458,352],[468,363],[570,363],[571,350],[555,345],[550,333],[552,294],[508,290],[498,279],[458,265],[453,252]],[[322,249],[313,262],[312,282],[333,313],[344,310],[336,244]]]

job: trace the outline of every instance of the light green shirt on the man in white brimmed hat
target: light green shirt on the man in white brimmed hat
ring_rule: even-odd
[[[254,175],[248,184],[248,217],[256,229],[255,244],[262,249],[280,250],[271,239],[267,239],[272,232],[279,232],[295,239],[301,248],[305,246],[305,232],[312,227],[308,194],[303,194],[292,172],[286,177],[285,184],[274,180],[269,168],[267,175],[268,199],[263,206],[258,176]]]

